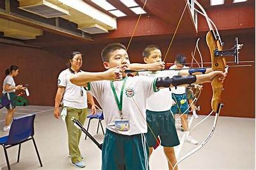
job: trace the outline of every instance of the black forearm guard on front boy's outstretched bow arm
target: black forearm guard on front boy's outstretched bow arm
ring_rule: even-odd
[[[192,84],[193,82],[196,82],[195,75],[187,75],[187,76],[175,75],[172,78],[158,77],[156,79],[156,87],[157,88],[161,88],[161,87],[169,88],[171,84],[174,87],[177,87],[182,84]]]

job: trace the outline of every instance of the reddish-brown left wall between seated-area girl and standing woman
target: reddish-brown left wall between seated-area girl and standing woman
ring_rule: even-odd
[[[0,84],[3,90],[4,70],[19,66],[16,84],[29,84],[30,105],[53,105],[57,76],[65,68],[65,59],[41,49],[4,45],[0,43]]]

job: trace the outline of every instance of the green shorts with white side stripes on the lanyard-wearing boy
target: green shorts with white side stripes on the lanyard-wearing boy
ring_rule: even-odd
[[[106,129],[102,146],[101,169],[149,169],[148,144],[145,135],[121,135]]]

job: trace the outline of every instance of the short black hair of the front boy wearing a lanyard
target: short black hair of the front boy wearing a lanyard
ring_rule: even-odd
[[[101,52],[102,60],[109,62],[109,57],[110,57],[109,53],[119,49],[126,50],[126,47],[122,45],[122,43],[109,43],[108,45],[106,45],[106,47],[104,47],[104,49],[102,49],[102,52]]]

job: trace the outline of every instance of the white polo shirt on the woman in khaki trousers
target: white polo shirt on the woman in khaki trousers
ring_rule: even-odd
[[[63,70],[58,77],[58,86],[65,87],[63,94],[63,105],[65,107],[73,107],[76,109],[87,108],[86,90],[80,86],[76,86],[70,82],[70,76],[73,73],[67,68]]]

